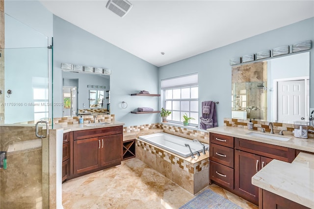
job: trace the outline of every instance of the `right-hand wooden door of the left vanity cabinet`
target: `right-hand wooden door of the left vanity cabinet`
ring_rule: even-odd
[[[122,160],[122,133],[100,137],[101,166],[120,164]]]

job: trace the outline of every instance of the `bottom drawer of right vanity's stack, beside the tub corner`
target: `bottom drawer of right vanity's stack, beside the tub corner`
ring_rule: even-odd
[[[234,169],[209,160],[209,179],[233,189]]]

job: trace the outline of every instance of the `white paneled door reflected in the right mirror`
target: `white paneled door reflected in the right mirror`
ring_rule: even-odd
[[[278,81],[278,122],[294,123],[306,118],[305,80]]]

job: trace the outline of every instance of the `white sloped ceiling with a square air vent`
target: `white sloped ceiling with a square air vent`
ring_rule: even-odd
[[[314,17],[314,0],[40,0],[53,14],[157,67]],[[160,52],[164,52],[162,55]]]

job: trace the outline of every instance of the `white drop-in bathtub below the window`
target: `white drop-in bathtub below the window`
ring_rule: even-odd
[[[188,149],[188,147],[185,147],[185,144],[188,144],[190,146],[194,155],[196,155],[196,151],[198,151],[200,154],[203,151],[203,146],[199,142],[197,141],[193,142],[190,139],[186,139],[186,138],[168,134],[168,133],[163,133],[163,132],[154,133],[154,134],[139,136],[138,138],[182,157],[191,156],[191,152]],[[204,145],[205,145],[206,152],[208,152],[207,150],[208,150],[209,145],[208,144],[204,144]]]

